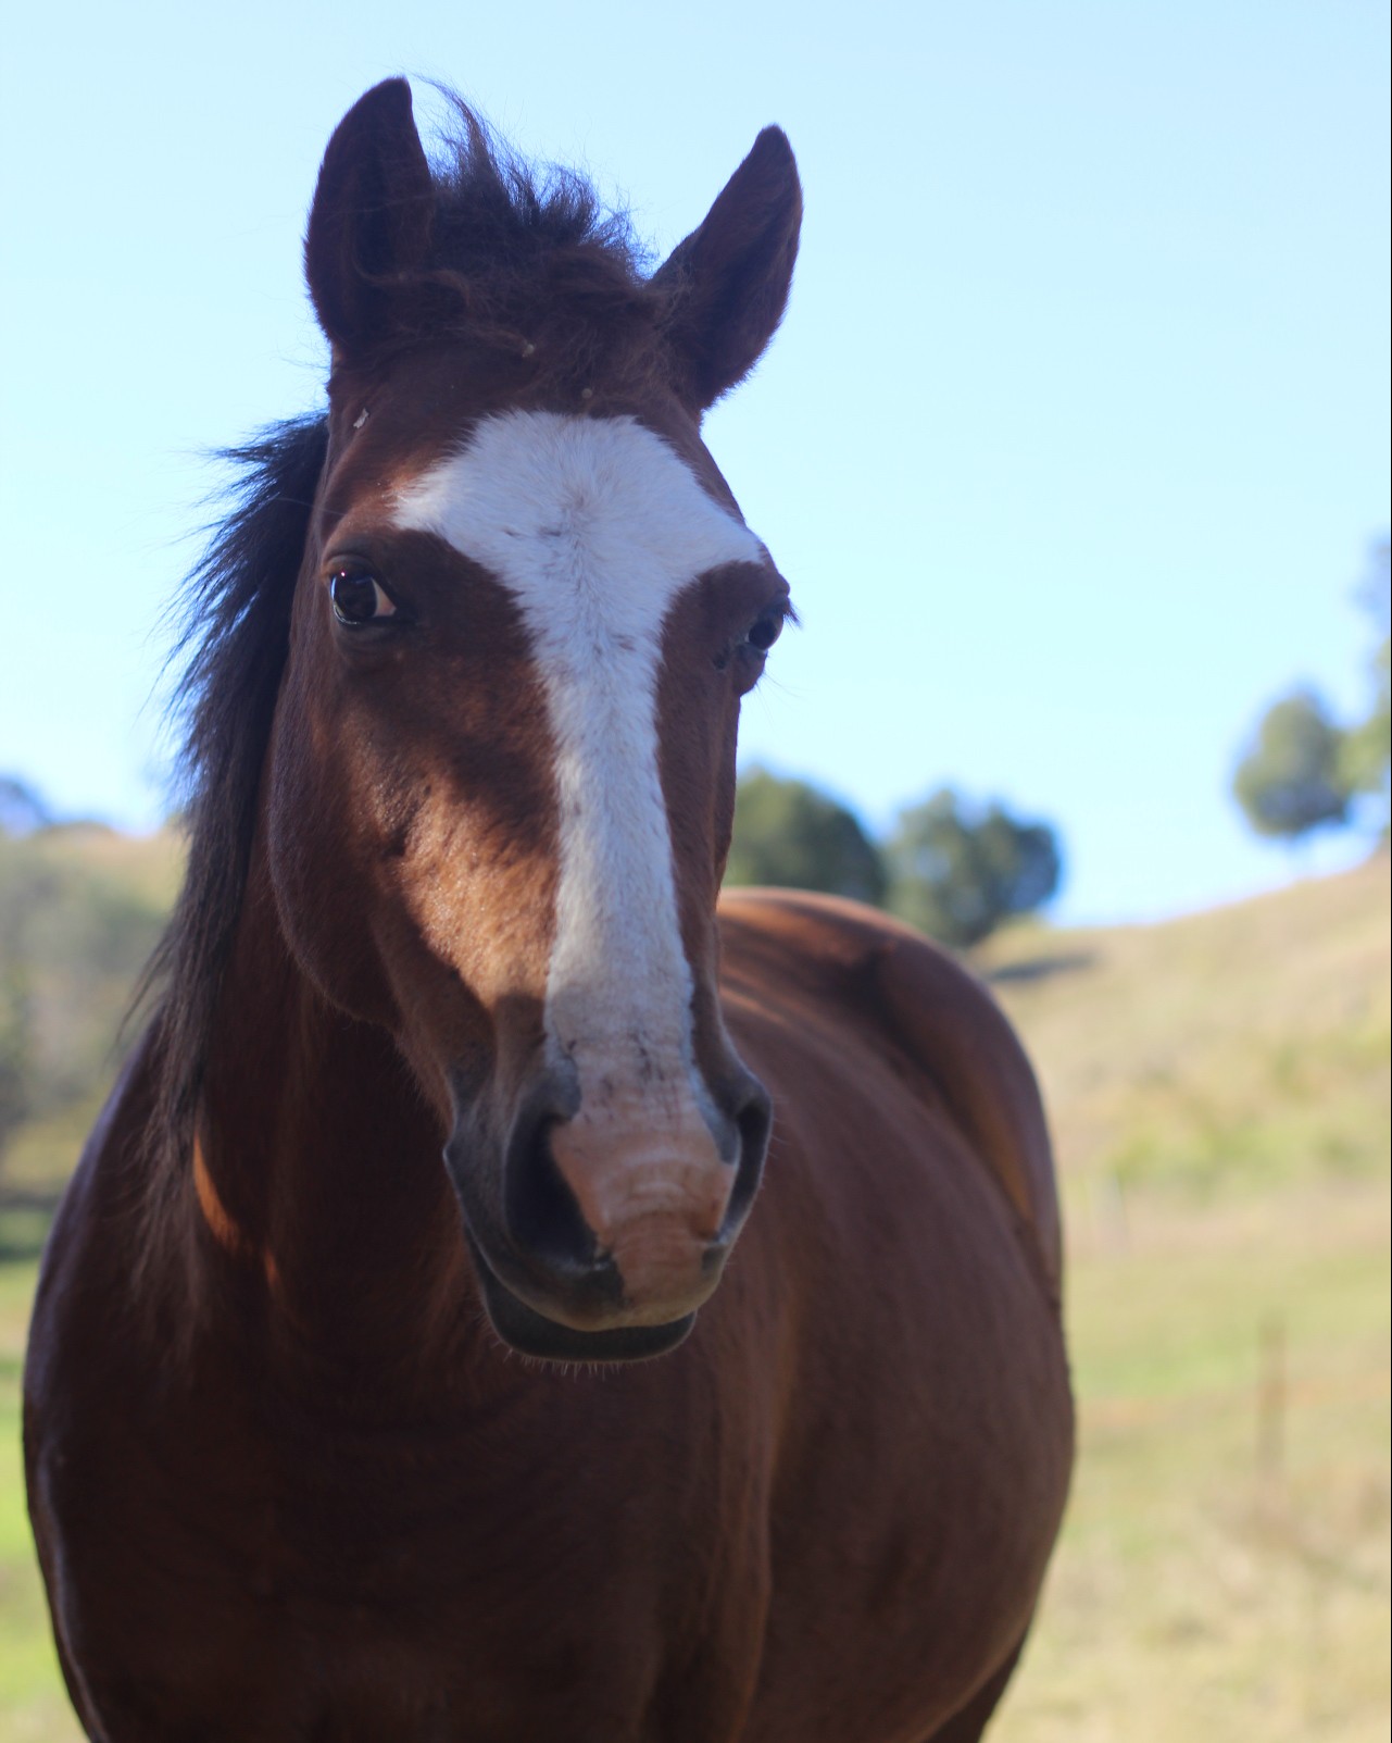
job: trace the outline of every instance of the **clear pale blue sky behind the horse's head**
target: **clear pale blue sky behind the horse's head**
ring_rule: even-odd
[[[793,307],[707,424],[805,621],[747,758],[876,828],[944,781],[1051,817],[1064,920],[1281,882],[1226,788],[1284,688],[1366,701],[1387,35],[1373,0],[24,9],[0,71],[0,770],[157,817],[148,697],[202,455],[317,403],[314,176],[406,71],[585,166],[659,253],[758,127],[793,139]]]

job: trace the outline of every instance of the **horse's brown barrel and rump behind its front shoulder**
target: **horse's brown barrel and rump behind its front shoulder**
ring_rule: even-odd
[[[990,994],[882,913],[735,891],[721,948],[775,1110],[726,1288],[777,1304],[784,1353],[747,1734],[929,1736],[1017,1649],[1068,1489],[1038,1091]],[[807,1675],[821,1638],[854,1677]]]

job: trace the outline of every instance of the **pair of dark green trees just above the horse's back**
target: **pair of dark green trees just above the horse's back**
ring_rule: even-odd
[[[782,884],[889,908],[946,945],[969,946],[1042,908],[1063,854],[1049,823],[941,788],[909,805],[883,842],[807,781],[749,770],[735,793],[726,884]]]

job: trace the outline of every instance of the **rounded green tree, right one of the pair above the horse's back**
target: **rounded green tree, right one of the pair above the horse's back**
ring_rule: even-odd
[[[943,788],[899,814],[885,847],[889,905],[946,945],[976,945],[1017,913],[1042,908],[1063,858],[1047,823],[974,805]]]

